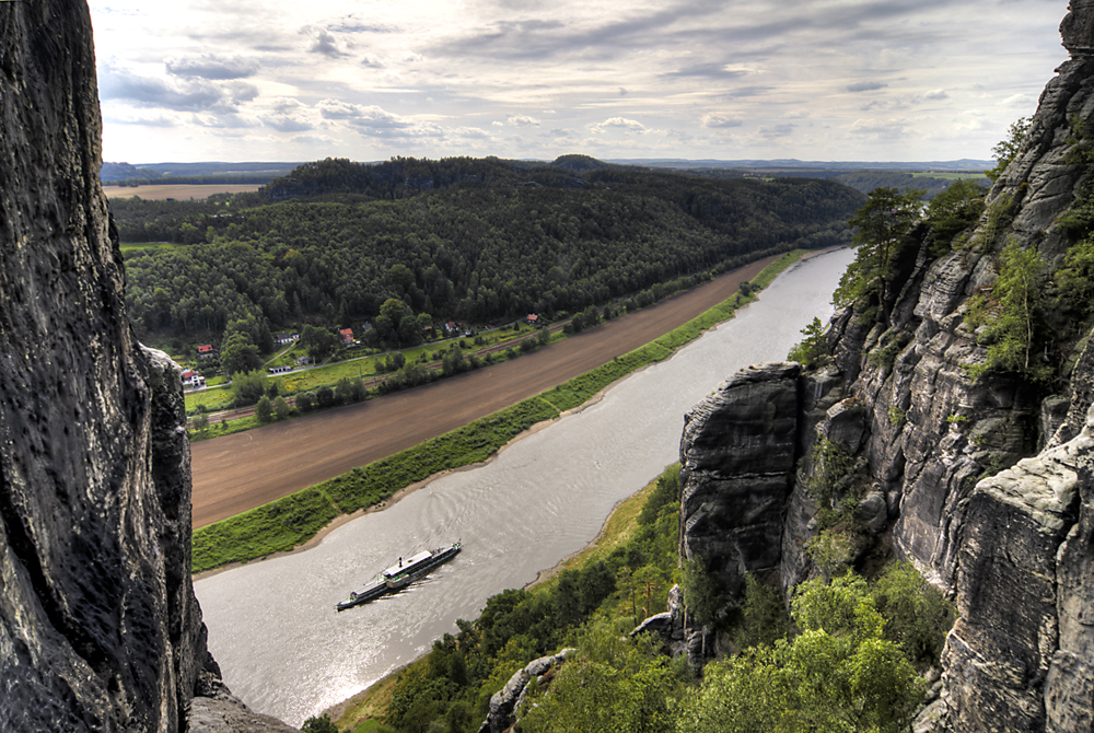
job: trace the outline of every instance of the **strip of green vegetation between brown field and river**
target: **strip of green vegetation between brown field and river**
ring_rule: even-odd
[[[768,265],[750,281],[749,295],[735,293],[719,305],[629,353],[522,400],[366,466],[194,531],[191,573],[226,569],[306,546],[364,511],[387,505],[408,487],[431,477],[482,463],[534,426],[558,419],[632,372],[671,357],[702,331],[731,318],[756,300],[780,272],[818,252],[793,251]],[[337,522],[337,524],[335,524]]]

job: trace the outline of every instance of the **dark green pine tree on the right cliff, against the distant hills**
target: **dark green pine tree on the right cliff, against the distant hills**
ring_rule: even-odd
[[[911,242],[909,234],[922,209],[922,195],[920,190],[900,194],[896,188],[875,188],[847,222],[856,229],[852,242],[859,249],[833,294],[837,306],[853,303],[864,313],[880,307],[881,321],[888,325],[896,266]]]

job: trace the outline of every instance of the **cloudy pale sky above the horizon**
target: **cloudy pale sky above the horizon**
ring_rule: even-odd
[[[90,0],[103,156],[989,160],[1067,0]]]

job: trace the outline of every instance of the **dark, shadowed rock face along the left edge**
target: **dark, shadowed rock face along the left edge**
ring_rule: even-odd
[[[100,137],[86,5],[0,3],[2,731],[182,731],[216,671],[181,371],[129,328]]]

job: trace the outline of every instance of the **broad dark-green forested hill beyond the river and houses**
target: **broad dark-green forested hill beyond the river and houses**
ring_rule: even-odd
[[[290,189],[306,197],[272,201]],[[358,326],[391,298],[415,314],[498,322],[548,317],[709,277],[760,253],[847,241],[864,197],[834,182],[714,181],[497,159],[377,165],[326,160],[260,194],[110,202],[142,333],[213,339],[290,324]]]

